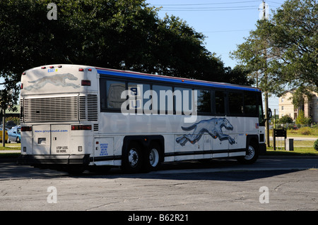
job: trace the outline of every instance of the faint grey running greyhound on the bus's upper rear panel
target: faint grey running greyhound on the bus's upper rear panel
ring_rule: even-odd
[[[52,85],[62,86],[62,87],[68,87],[68,86],[73,88],[80,87],[79,85],[75,85],[73,83],[67,83],[66,79],[78,80],[78,78],[76,78],[76,76],[71,73],[55,74],[55,75],[50,75],[50,76],[40,78],[37,80],[28,81],[28,83],[34,83],[34,85],[25,87],[25,90],[32,90],[32,89],[36,90],[41,87],[44,87],[47,83],[51,83]]]

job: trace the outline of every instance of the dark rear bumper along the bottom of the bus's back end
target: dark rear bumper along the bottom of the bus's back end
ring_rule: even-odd
[[[72,164],[88,165],[90,163],[89,154],[20,154],[17,164]]]

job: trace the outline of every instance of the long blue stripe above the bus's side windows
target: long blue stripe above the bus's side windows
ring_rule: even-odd
[[[170,82],[170,83],[177,83],[182,85],[201,85],[204,87],[219,87],[219,88],[228,88],[228,89],[236,89],[236,90],[249,90],[254,92],[261,92],[256,87],[247,87],[247,86],[239,86],[239,85],[230,85],[230,84],[223,84],[223,83],[204,83],[200,82],[199,80],[189,80],[184,79],[182,81],[182,78],[169,78],[166,76],[160,77],[160,75],[143,75],[138,73],[121,73],[119,71],[105,71],[97,69],[99,74],[105,74],[105,75],[114,75],[114,76],[121,76],[126,78],[136,78],[136,79],[146,79],[146,80],[158,80],[163,82]]]

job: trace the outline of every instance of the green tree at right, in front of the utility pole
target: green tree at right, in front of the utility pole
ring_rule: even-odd
[[[318,89],[317,22],[315,0],[285,1],[232,52],[264,91],[266,109],[267,95],[279,96],[288,85]]]

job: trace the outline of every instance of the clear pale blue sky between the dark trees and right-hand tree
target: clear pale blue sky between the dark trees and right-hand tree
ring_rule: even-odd
[[[283,0],[265,1],[271,10],[276,10]],[[233,68],[237,61],[230,59],[230,51],[237,49],[237,44],[245,42],[250,30],[255,30],[259,20],[258,10],[261,0],[146,0],[150,6],[159,8],[160,18],[165,14],[178,16],[185,20],[196,32],[205,36],[206,49],[215,52],[225,66]],[[271,97],[269,108],[278,109],[278,98]]]

